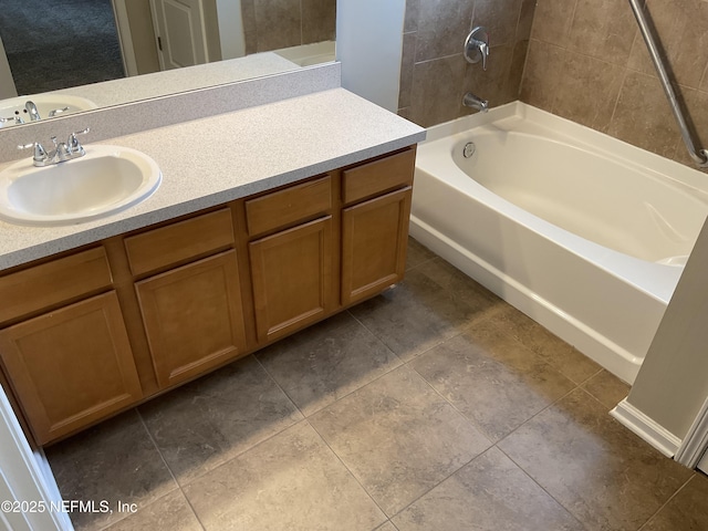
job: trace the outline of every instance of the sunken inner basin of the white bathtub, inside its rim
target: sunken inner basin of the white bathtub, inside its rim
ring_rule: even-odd
[[[566,143],[493,126],[479,129],[457,142],[454,160],[496,195],[615,251],[685,263],[708,212],[704,190],[679,188],[654,171]],[[466,158],[461,154],[470,142],[476,150]]]

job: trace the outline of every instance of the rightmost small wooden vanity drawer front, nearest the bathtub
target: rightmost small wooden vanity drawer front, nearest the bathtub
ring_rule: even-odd
[[[342,199],[345,204],[393,190],[413,184],[416,150],[392,155],[379,160],[363,164],[342,173]]]

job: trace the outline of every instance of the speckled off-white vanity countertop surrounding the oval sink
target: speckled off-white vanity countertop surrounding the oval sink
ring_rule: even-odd
[[[344,88],[112,138],[152,156],[159,189],[114,216],[64,227],[0,221],[0,270],[398,149],[425,129]],[[91,143],[84,145],[91,149]],[[71,164],[64,163],[64,164]],[[0,165],[2,170],[6,165]]]

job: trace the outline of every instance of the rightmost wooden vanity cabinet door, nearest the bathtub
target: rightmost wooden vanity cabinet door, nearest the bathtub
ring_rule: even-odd
[[[403,279],[412,188],[345,208],[342,214],[342,304]]]

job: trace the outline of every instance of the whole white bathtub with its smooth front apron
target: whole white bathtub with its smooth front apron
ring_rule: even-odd
[[[428,129],[410,233],[633,383],[706,215],[708,175],[516,102]]]

